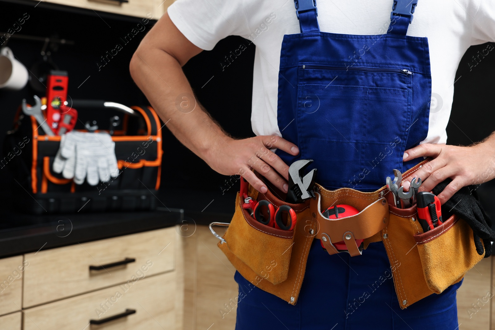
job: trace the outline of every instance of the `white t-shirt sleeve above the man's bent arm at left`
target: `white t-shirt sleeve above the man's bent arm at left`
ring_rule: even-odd
[[[167,12],[179,31],[204,50],[230,35],[250,35],[243,0],[177,0]]]

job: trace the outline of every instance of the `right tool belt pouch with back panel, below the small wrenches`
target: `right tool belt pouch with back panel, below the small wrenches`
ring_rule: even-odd
[[[407,172],[406,178],[429,159]],[[464,274],[483,256],[476,252],[473,231],[456,215],[443,225],[423,233],[416,204],[407,209],[394,206],[392,193],[384,187],[389,202],[390,220],[381,232],[387,250],[400,308],[431,295],[441,293],[449,285],[462,280]]]

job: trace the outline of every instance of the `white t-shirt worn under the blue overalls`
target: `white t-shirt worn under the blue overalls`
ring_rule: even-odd
[[[384,34],[392,4],[393,0],[317,0],[320,30]],[[256,135],[281,136],[277,125],[280,49],[285,34],[300,32],[294,0],[177,0],[168,8],[168,15],[182,34],[202,49],[211,50],[229,35],[242,36],[256,45],[252,130]],[[455,72],[468,47],[495,41],[495,0],[420,0],[407,35],[428,37],[430,46],[432,102],[423,143],[446,143]],[[484,58],[495,52],[493,49],[489,44],[472,59],[471,69],[482,60],[493,60]]]

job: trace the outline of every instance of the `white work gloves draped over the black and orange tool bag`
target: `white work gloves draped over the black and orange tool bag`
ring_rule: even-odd
[[[74,179],[78,185],[87,179],[96,186],[118,175],[115,142],[106,133],[69,132],[62,136],[53,161],[53,172]]]

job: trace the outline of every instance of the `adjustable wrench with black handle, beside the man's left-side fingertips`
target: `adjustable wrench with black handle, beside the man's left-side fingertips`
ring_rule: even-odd
[[[289,190],[286,202],[301,203],[303,200],[314,197],[313,186],[316,179],[316,169],[312,169],[304,177],[304,169],[313,162],[312,159],[300,159],[289,167]]]

